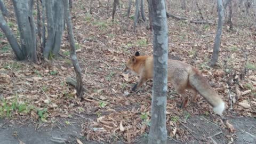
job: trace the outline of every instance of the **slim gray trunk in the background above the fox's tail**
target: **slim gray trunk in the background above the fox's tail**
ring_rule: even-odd
[[[212,59],[211,59],[211,62],[210,62],[211,67],[213,67],[215,65],[215,63],[217,62],[218,57],[219,57],[221,33],[222,33],[222,24],[223,24],[223,15],[224,15],[222,1],[217,0],[217,5],[218,5],[218,28],[217,28],[217,33],[216,33],[216,36],[215,36],[215,39],[214,39],[213,55],[212,55]]]

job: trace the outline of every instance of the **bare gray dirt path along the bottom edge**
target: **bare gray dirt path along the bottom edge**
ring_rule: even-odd
[[[60,120],[63,121],[64,119]],[[95,141],[86,141],[81,137],[81,119],[69,119],[71,125],[64,126],[62,124],[54,126],[41,126],[35,130],[35,125],[10,123],[4,119],[0,120],[0,144],[15,144],[20,141],[26,144],[43,144],[43,143],[61,143],[52,141],[53,138],[65,139],[66,143],[77,143],[77,139],[83,143],[98,143]],[[256,121],[255,118],[249,117],[234,117],[229,118],[236,129],[235,133],[228,132],[227,129],[221,129],[220,126],[214,125],[205,117],[191,117],[187,123],[183,123],[180,127],[182,129],[189,129],[191,132],[186,141],[169,140],[168,143],[207,143],[211,141],[207,137],[212,137],[217,143],[228,143],[231,137],[234,143],[256,143]],[[221,133],[220,133],[221,132]],[[218,135],[215,135],[218,134]],[[214,136],[215,135],[215,136]],[[228,138],[230,135],[230,138]],[[55,139],[57,140],[57,139]],[[62,141],[63,142],[63,141]],[[63,142],[65,143],[65,142]],[[115,143],[123,143],[116,141]],[[146,138],[138,138],[136,143],[146,143]]]

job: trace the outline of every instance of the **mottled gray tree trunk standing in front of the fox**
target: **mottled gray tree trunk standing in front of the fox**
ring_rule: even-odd
[[[154,75],[148,143],[166,143],[168,28],[165,1],[149,0],[153,13]]]

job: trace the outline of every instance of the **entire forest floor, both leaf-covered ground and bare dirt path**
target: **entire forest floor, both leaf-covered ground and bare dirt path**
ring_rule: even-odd
[[[6,5],[11,14],[7,18],[9,26],[18,35],[12,6]],[[84,1],[73,5],[77,55],[87,89],[82,102],[76,98],[74,87],[66,83],[67,77],[75,78],[67,32],[60,57],[35,64],[15,60],[0,31],[1,144],[145,143],[152,81],[127,95],[138,77],[122,71],[125,61],[136,51],[153,53],[153,35],[146,29],[148,22],[142,21],[134,33],[133,20],[120,17],[118,11],[111,22],[111,8],[107,11],[106,3],[102,5],[92,14],[87,13]],[[123,13],[126,9],[122,7]],[[207,63],[217,26],[168,18],[168,27],[169,58],[199,69],[227,103],[223,118],[213,114],[202,97],[198,97],[197,105],[188,103],[180,109],[182,98],[169,84],[168,143],[256,143],[255,30],[228,30],[225,24],[217,66],[210,68]]]

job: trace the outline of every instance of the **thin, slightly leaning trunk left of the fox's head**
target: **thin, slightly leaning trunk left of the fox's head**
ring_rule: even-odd
[[[65,9],[65,20],[66,20],[67,30],[68,30],[68,39],[69,39],[69,43],[70,43],[70,46],[71,46],[70,57],[72,59],[73,66],[74,66],[74,69],[76,71],[77,97],[83,99],[82,70],[79,67],[79,63],[78,63],[78,60],[77,60],[75,38],[74,38],[74,34],[73,34],[73,28],[72,28],[71,16],[70,16],[70,12],[69,12],[68,0],[64,0],[64,9]]]

